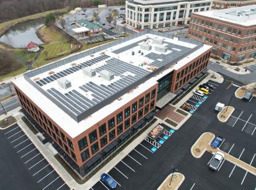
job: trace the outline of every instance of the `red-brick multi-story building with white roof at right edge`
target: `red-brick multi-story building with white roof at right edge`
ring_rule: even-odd
[[[192,14],[188,37],[231,63],[256,57],[256,5]]]

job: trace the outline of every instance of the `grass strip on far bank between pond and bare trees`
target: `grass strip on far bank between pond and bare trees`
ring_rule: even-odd
[[[47,14],[50,14],[50,13],[55,13],[55,12],[66,12],[66,8],[64,9],[57,9],[57,10],[52,10],[52,11],[45,11],[45,12],[40,12],[38,14],[33,14],[33,15],[30,15],[30,16],[26,16],[26,17],[21,17],[19,19],[14,19],[14,20],[9,20],[7,22],[2,22],[0,24],[0,32],[2,30],[4,30],[4,28],[7,26],[7,25],[13,25],[13,24],[17,24],[19,22],[24,22],[25,20],[30,20],[30,19],[37,19],[37,18],[40,18],[40,17],[44,17],[46,16]]]

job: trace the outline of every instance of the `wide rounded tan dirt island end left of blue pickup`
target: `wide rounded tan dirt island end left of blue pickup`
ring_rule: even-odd
[[[200,158],[214,137],[215,135],[213,133],[203,133],[191,147],[192,155],[196,158]]]

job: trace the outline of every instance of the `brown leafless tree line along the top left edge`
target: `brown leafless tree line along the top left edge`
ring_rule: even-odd
[[[125,0],[0,0],[0,22],[20,17],[69,7],[91,7],[98,4],[107,6],[124,5]]]

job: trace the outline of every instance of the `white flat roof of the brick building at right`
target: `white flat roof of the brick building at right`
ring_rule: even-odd
[[[244,26],[256,25],[256,5],[196,12],[194,14]]]

